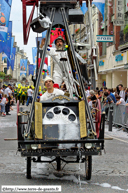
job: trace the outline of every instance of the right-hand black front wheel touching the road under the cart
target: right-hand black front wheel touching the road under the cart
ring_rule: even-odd
[[[90,180],[92,176],[92,156],[85,157],[85,175],[86,180]]]

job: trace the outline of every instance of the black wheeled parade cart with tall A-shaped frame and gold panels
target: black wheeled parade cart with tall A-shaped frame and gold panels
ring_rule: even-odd
[[[27,3],[25,0],[22,0],[22,2],[25,8]],[[35,2],[37,3],[37,1]],[[91,114],[81,77],[80,66],[69,32],[69,21],[70,23],[75,23],[78,22],[78,18],[80,21],[83,20],[83,17],[79,13],[75,15],[70,12],[71,14],[69,15],[69,10],[75,10],[76,4],[77,0],[40,0],[40,13],[48,16],[52,24],[47,28],[46,41],[36,80],[35,94],[27,121],[23,121],[27,112],[19,113],[19,110],[17,112],[18,151],[21,152],[21,156],[27,158],[27,178],[31,178],[32,161],[36,163],[56,162],[56,170],[58,171],[62,169],[62,162],[66,164],[81,162],[85,163],[85,176],[87,180],[90,180],[92,156],[101,154],[101,151],[104,149],[105,114],[101,113],[99,100],[95,104],[95,119]],[[91,1],[88,0],[89,16],[91,16],[90,6]],[[38,19],[35,20],[35,23],[34,21],[32,22],[32,26],[35,30],[37,28],[41,30]],[[78,74],[79,85],[73,86],[77,90],[78,100],[74,100],[72,96],[55,96],[39,103],[36,102],[36,98],[49,37],[51,29],[58,26],[63,28],[65,32],[72,81],[76,80],[75,72]],[[96,68],[94,47],[92,47],[92,61],[94,68]],[[60,65],[61,62],[63,62],[63,58],[60,61]],[[43,159],[44,156],[53,156],[54,158],[46,161]],[[69,156],[75,158],[75,161],[74,159],[70,159],[69,161]]]

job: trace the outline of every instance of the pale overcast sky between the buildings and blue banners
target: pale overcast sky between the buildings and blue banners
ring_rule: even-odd
[[[27,8],[27,17],[30,13],[32,7]],[[37,8],[35,8],[34,18],[37,17]],[[30,30],[30,35],[28,39],[27,45],[23,43],[23,22],[22,22],[22,2],[21,0],[12,0],[12,7],[11,7],[11,15],[10,21],[13,21],[12,27],[12,34],[15,36],[15,41],[17,42],[17,46],[20,47],[20,50],[24,50],[27,53],[28,60],[31,64],[33,64],[32,60],[32,47],[36,47],[36,40],[35,37],[37,33],[34,33]],[[39,34],[39,36],[41,36]]]

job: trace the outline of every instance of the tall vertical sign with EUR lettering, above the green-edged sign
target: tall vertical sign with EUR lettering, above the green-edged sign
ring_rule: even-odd
[[[113,21],[113,25],[122,26],[124,22],[124,1],[116,0],[116,19]]]

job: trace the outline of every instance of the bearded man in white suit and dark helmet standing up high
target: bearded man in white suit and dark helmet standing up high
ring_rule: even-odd
[[[40,48],[43,48],[45,44],[45,38],[42,39]],[[59,86],[62,84],[62,82],[64,81],[67,87],[67,90],[69,91],[69,89],[73,90],[73,80],[70,76],[70,71],[71,71],[71,67],[69,64],[69,58],[68,58],[68,54],[67,51],[64,51],[65,49],[65,41],[62,38],[62,36],[59,36],[56,40],[55,40],[55,48],[53,47],[48,47],[47,49],[47,54],[49,56],[52,57],[52,62],[51,62],[51,66],[52,66],[52,77],[55,83],[59,84]],[[63,51],[62,51],[63,50]],[[61,61],[61,58],[65,58],[67,59],[67,61]],[[69,80],[70,78],[70,80]],[[70,95],[73,95],[73,91],[70,91]]]

